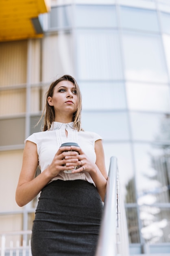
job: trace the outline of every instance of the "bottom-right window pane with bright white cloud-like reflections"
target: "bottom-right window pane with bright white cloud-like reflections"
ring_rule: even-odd
[[[146,243],[170,243],[170,209],[145,205],[140,207],[140,219]]]

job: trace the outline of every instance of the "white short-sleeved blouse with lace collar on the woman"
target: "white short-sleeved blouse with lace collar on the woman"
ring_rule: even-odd
[[[65,129],[68,131],[68,137],[65,135]],[[24,143],[28,140],[37,145],[39,168],[41,172],[43,172],[51,164],[54,155],[57,153],[61,144],[65,142],[78,143],[87,157],[95,163],[96,153],[94,145],[95,141],[98,139],[102,138],[95,132],[78,132],[73,128],[73,122],[69,124],[53,122],[50,130],[33,133],[24,141]],[[81,173],[64,173],[61,171],[52,180],[86,180],[87,182],[94,184],[92,177],[86,171],[82,171]]]

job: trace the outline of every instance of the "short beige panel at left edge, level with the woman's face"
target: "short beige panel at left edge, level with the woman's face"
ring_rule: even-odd
[[[0,116],[26,111],[26,89],[0,91]]]

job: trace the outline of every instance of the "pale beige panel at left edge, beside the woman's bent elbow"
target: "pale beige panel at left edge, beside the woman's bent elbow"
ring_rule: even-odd
[[[15,190],[22,167],[23,150],[0,152],[0,211],[21,208],[15,202]]]

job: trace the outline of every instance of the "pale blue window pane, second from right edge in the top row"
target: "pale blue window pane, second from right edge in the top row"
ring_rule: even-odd
[[[120,22],[123,28],[159,31],[157,13],[152,10],[120,7]]]

